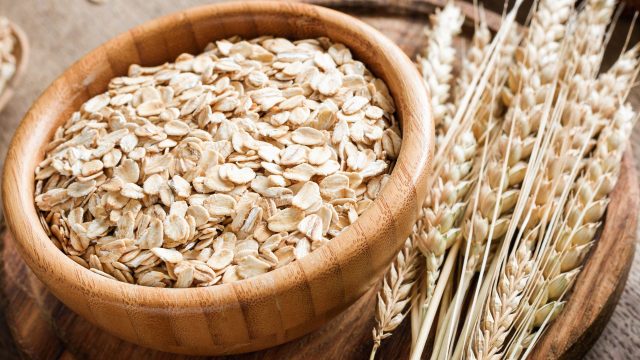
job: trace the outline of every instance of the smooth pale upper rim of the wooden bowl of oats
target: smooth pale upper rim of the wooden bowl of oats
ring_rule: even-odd
[[[319,19],[320,21],[323,21],[325,23],[328,22],[331,25],[336,25],[338,22],[343,22],[344,24],[346,24],[343,25],[344,28],[356,29],[364,34],[365,37],[369,37],[375,40],[376,42],[380,43],[381,47],[388,50],[386,54],[381,54],[381,56],[389,57],[391,59],[390,61],[395,62],[398,65],[388,70],[391,73],[391,75],[389,76],[399,77],[400,79],[402,79],[402,82],[408,86],[408,88],[420,90],[414,91],[411,94],[402,95],[407,96],[415,103],[420,104],[421,108],[411,109],[406,114],[400,114],[400,108],[398,106],[396,107],[396,117],[405,117],[405,119],[402,120],[403,134],[406,131],[404,127],[406,127],[407,124],[411,124],[412,128],[416,128],[416,131],[421,135],[423,141],[420,144],[412,143],[410,144],[412,146],[407,146],[407,144],[413,142],[413,139],[406,139],[403,137],[403,146],[396,161],[394,170],[391,172],[392,181],[403,181],[405,183],[407,181],[410,182],[412,188],[411,193],[401,193],[399,191],[392,192],[390,189],[391,186],[386,186],[382,190],[382,193],[379,195],[379,197],[374,200],[373,204],[360,216],[356,223],[349,226],[349,228],[339,236],[333,238],[327,245],[323,246],[322,248],[316,249],[315,251],[312,251],[303,259],[296,260],[281,268],[274,269],[253,278],[243,279],[227,284],[217,284],[210,287],[155,288],[109,279],[99,274],[93,273],[83,266],[80,266],[79,264],[71,260],[64,252],[55,247],[49,236],[42,228],[42,225],[38,219],[37,211],[35,209],[35,201],[33,195],[33,187],[35,182],[34,168],[30,167],[29,165],[21,166],[21,159],[19,158],[19,154],[28,151],[25,149],[29,145],[27,140],[28,134],[24,134],[24,132],[27,128],[35,126],[39,122],[39,119],[35,114],[36,108],[38,108],[41,103],[47,103],[46,97],[50,93],[59,91],[56,85],[65,85],[62,84],[62,80],[69,76],[69,74],[71,74],[73,70],[83,62],[83,60],[91,57],[92,55],[100,53],[102,49],[107,46],[116,45],[119,40],[130,36],[132,31],[149,31],[150,29],[161,29],[164,24],[170,20],[176,18],[186,18],[190,20],[190,16],[195,16],[201,11],[211,11],[211,13],[213,14],[212,16],[220,16],[227,11],[231,11],[230,9],[235,9],[235,11],[237,11],[238,4],[223,2],[191,7],[144,22],[141,25],[118,34],[117,36],[111,38],[97,48],[86,53],[78,61],[65,69],[65,71],[59,77],[57,77],[56,80],[54,80],[46,88],[45,91],[43,91],[43,93],[35,100],[30,109],[25,114],[24,118],[21,120],[7,152],[2,185],[3,205],[5,209],[7,224],[12,230],[14,238],[16,239],[18,249],[29,267],[36,267],[39,270],[36,271],[36,275],[38,275],[38,277],[40,277],[40,272],[46,272],[49,276],[52,277],[52,279],[49,279],[49,281],[63,282],[71,287],[74,287],[75,289],[81,290],[85,293],[85,295],[91,294],[92,296],[100,296],[101,298],[110,301],[126,302],[127,304],[131,305],[162,308],[176,306],[180,306],[181,308],[196,308],[202,306],[201,301],[203,300],[217,300],[215,302],[220,304],[220,299],[237,299],[235,291],[237,291],[239,287],[245,288],[247,286],[257,286],[259,288],[261,286],[267,285],[267,287],[269,287],[270,289],[280,292],[284,291],[285,288],[290,287],[290,284],[286,284],[286,282],[280,280],[286,278],[287,269],[292,266],[300,267],[305,264],[311,266],[311,268],[314,269],[313,273],[308,273],[309,267],[303,266],[306,280],[309,280],[312,277],[317,278],[319,276],[322,276],[322,271],[321,269],[319,269],[319,265],[326,265],[328,263],[328,261],[326,259],[323,259],[323,257],[326,258],[326,256],[337,255],[337,253],[334,253],[333,250],[343,248],[345,244],[348,244],[348,240],[356,236],[357,224],[361,224],[366,218],[371,216],[371,213],[374,208],[376,208],[376,203],[379,202],[380,197],[389,197],[391,195],[395,196],[400,194],[401,198],[394,199],[394,201],[406,202],[412,197],[419,197],[421,195],[424,195],[424,190],[416,189],[416,183],[420,179],[423,179],[425,176],[427,176],[427,173],[429,172],[431,167],[434,145],[433,117],[429,102],[428,91],[425,89],[422,79],[413,66],[411,60],[409,60],[409,58],[404,54],[402,50],[397,47],[395,43],[393,43],[386,36],[382,35],[378,30],[350,15],[311,4],[288,3],[284,8],[282,7],[282,4],[283,3],[276,1],[243,2],[242,9],[243,11],[249,13],[261,12],[259,13],[260,15],[262,15],[265,10],[267,12],[277,11],[279,13],[281,13],[282,11],[286,11],[291,15],[299,15],[299,10],[305,9],[315,14],[317,20]],[[308,13],[305,14],[307,14],[306,16],[308,16]],[[211,39],[211,41],[214,40],[216,39]],[[376,74],[376,76],[379,75],[380,74]],[[117,76],[117,74],[115,76]],[[398,94],[392,95],[397,105]],[[62,115],[58,115],[58,117],[61,116]],[[51,127],[57,128],[61,123],[62,121],[59,121],[58,124],[51,125]],[[50,136],[46,138],[48,139],[48,141],[50,141]],[[46,145],[46,142],[41,142],[39,145]],[[417,146],[419,147],[416,148]],[[398,168],[399,166],[406,165],[405,160],[409,156],[409,151],[411,150],[415,152],[420,149],[423,150],[423,153],[414,155],[422,161],[417,161],[417,167],[411,169],[413,177],[409,179],[407,179],[406,177],[401,180],[398,179],[398,177],[400,176],[398,174]],[[424,149],[426,149],[426,151],[424,151]],[[31,152],[35,153],[34,151]],[[36,166],[37,163],[42,160],[42,156],[31,156],[37,158],[37,161],[35,161]],[[21,206],[17,204],[21,204]],[[418,206],[420,205],[418,204]],[[417,211],[418,209],[415,210]],[[397,213],[398,211],[394,212],[394,215],[397,215]],[[380,224],[375,225],[376,226],[373,229],[360,229],[359,233],[372,233],[374,231],[379,231],[379,228],[381,227]],[[323,249],[324,251],[321,251]],[[325,253],[324,256],[323,253]],[[55,269],[56,271],[51,271],[51,269]],[[51,286],[49,286],[48,284],[48,281],[45,281],[45,283],[47,283],[48,288],[51,288]],[[193,299],[198,299],[200,301],[194,301]]]

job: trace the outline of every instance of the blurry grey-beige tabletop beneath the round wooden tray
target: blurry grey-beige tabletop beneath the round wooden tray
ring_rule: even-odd
[[[392,1],[407,3],[402,0]],[[178,9],[210,2],[107,0],[105,5],[94,5],[86,0],[0,0],[0,15],[5,15],[20,25],[31,42],[27,74],[12,102],[0,113],[0,165],[13,130],[29,105],[73,61],[132,26]],[[489,2],[502,3],[500,0]],[[491,8],[492,5],[489,4],[488,7]],[[416,18],[416,21],[424,22],[425,19]],[[622,20],[623,23],[625,21],[628,20]],[[385,31],[384,28],[381,30]],[[624,35],[616,33],[611,41],[612,47],[620,47],[624,42]],[[638,34],[634,34],[634,38],[637,39]],[[640,108],[640,89],[632,91],[630,101],[636,109]],[[634,131],[633,145],[635,158],[640,159],[639,127]],[[636,164],[640,168],[640,162]],[[636,256],[619,305],[601,338],[587,356],[588,359],[631,359],[640,354],[639,305],[640,256]],[[3,314],[0,314],[0,323],[2,317]],[[0,349],[6,341],[10,339],[0,339]]]

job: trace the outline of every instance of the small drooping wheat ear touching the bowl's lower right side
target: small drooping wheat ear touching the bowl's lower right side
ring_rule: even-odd
[[[412,240],[405,241],[391,268],[385,275],[382,288],[378,292],[376,303],[376,325],[373,329],[373,348],[371,359],[380,347],[382,340],[391,336],[393,330],[402,322],[405,307],[409,302],[411,287],[416,281],[418,252]]]

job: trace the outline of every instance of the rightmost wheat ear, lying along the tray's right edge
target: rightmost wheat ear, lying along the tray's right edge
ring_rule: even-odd
[[[593,153],[582,161],[585,170],[575,182],[571,198],[567,201],[564,222],[542,255],[543,271],[538,281],[544,286],[532,295],[532,298],[537,295],[534,299],[537,303],[532,305],[535,316],[530,325],[540,329],[529,334],[529,337],[534,337],[529,343],[535,342],[546,324],[560,312],[563,304],[560,297],[569,290],[579,272],[606,210],[607,196],[617,181],[622,154],[635,121],[631,108],[622,103],[635,81],[638,65],[636,46],[623,54],[594,85],[594,93],[600,94],[600,98],[592,98],[591,110],[599,119],[596,123],[604,129],[598,136]]]

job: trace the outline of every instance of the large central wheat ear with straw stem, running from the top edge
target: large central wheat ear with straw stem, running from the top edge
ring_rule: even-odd
[[[510,73],[507,96],[504,96],[510,100],[507,102],[511,106],[510,114],[507,114],[502,134],[487,165],[488,181],[480,185],[478,211],[475,208],[467,211],[465,225],[470,230],[463,231],[467,247],[457,290],[459,294],[454,296],[458,303],[450,309],[451,325],[436,336],[436,357],[446,356],[439,351],[450,351],[455,331],[453,324],[458,322],[461,299],[465,297],[475,272],[480,272],[479,281],[482,283],[491,240],[501,238],[508,229],[511,212],[520,195],[519,185],[530,163],[529,156],[539,146],[540,136],[544,133],[544,126],[540,125],[545,111],[541,108],[551,110],[549,94],[555,92],[557,74],[554,69],[557,69],[560,43],[572,6],[572,1],[541,1],[529,28],[529,36],[516,52],[515,71]],[[540,34],[544,36],[537,36]],[[473,296],[468,316],[477,316],[475,306],[479,290]]]

